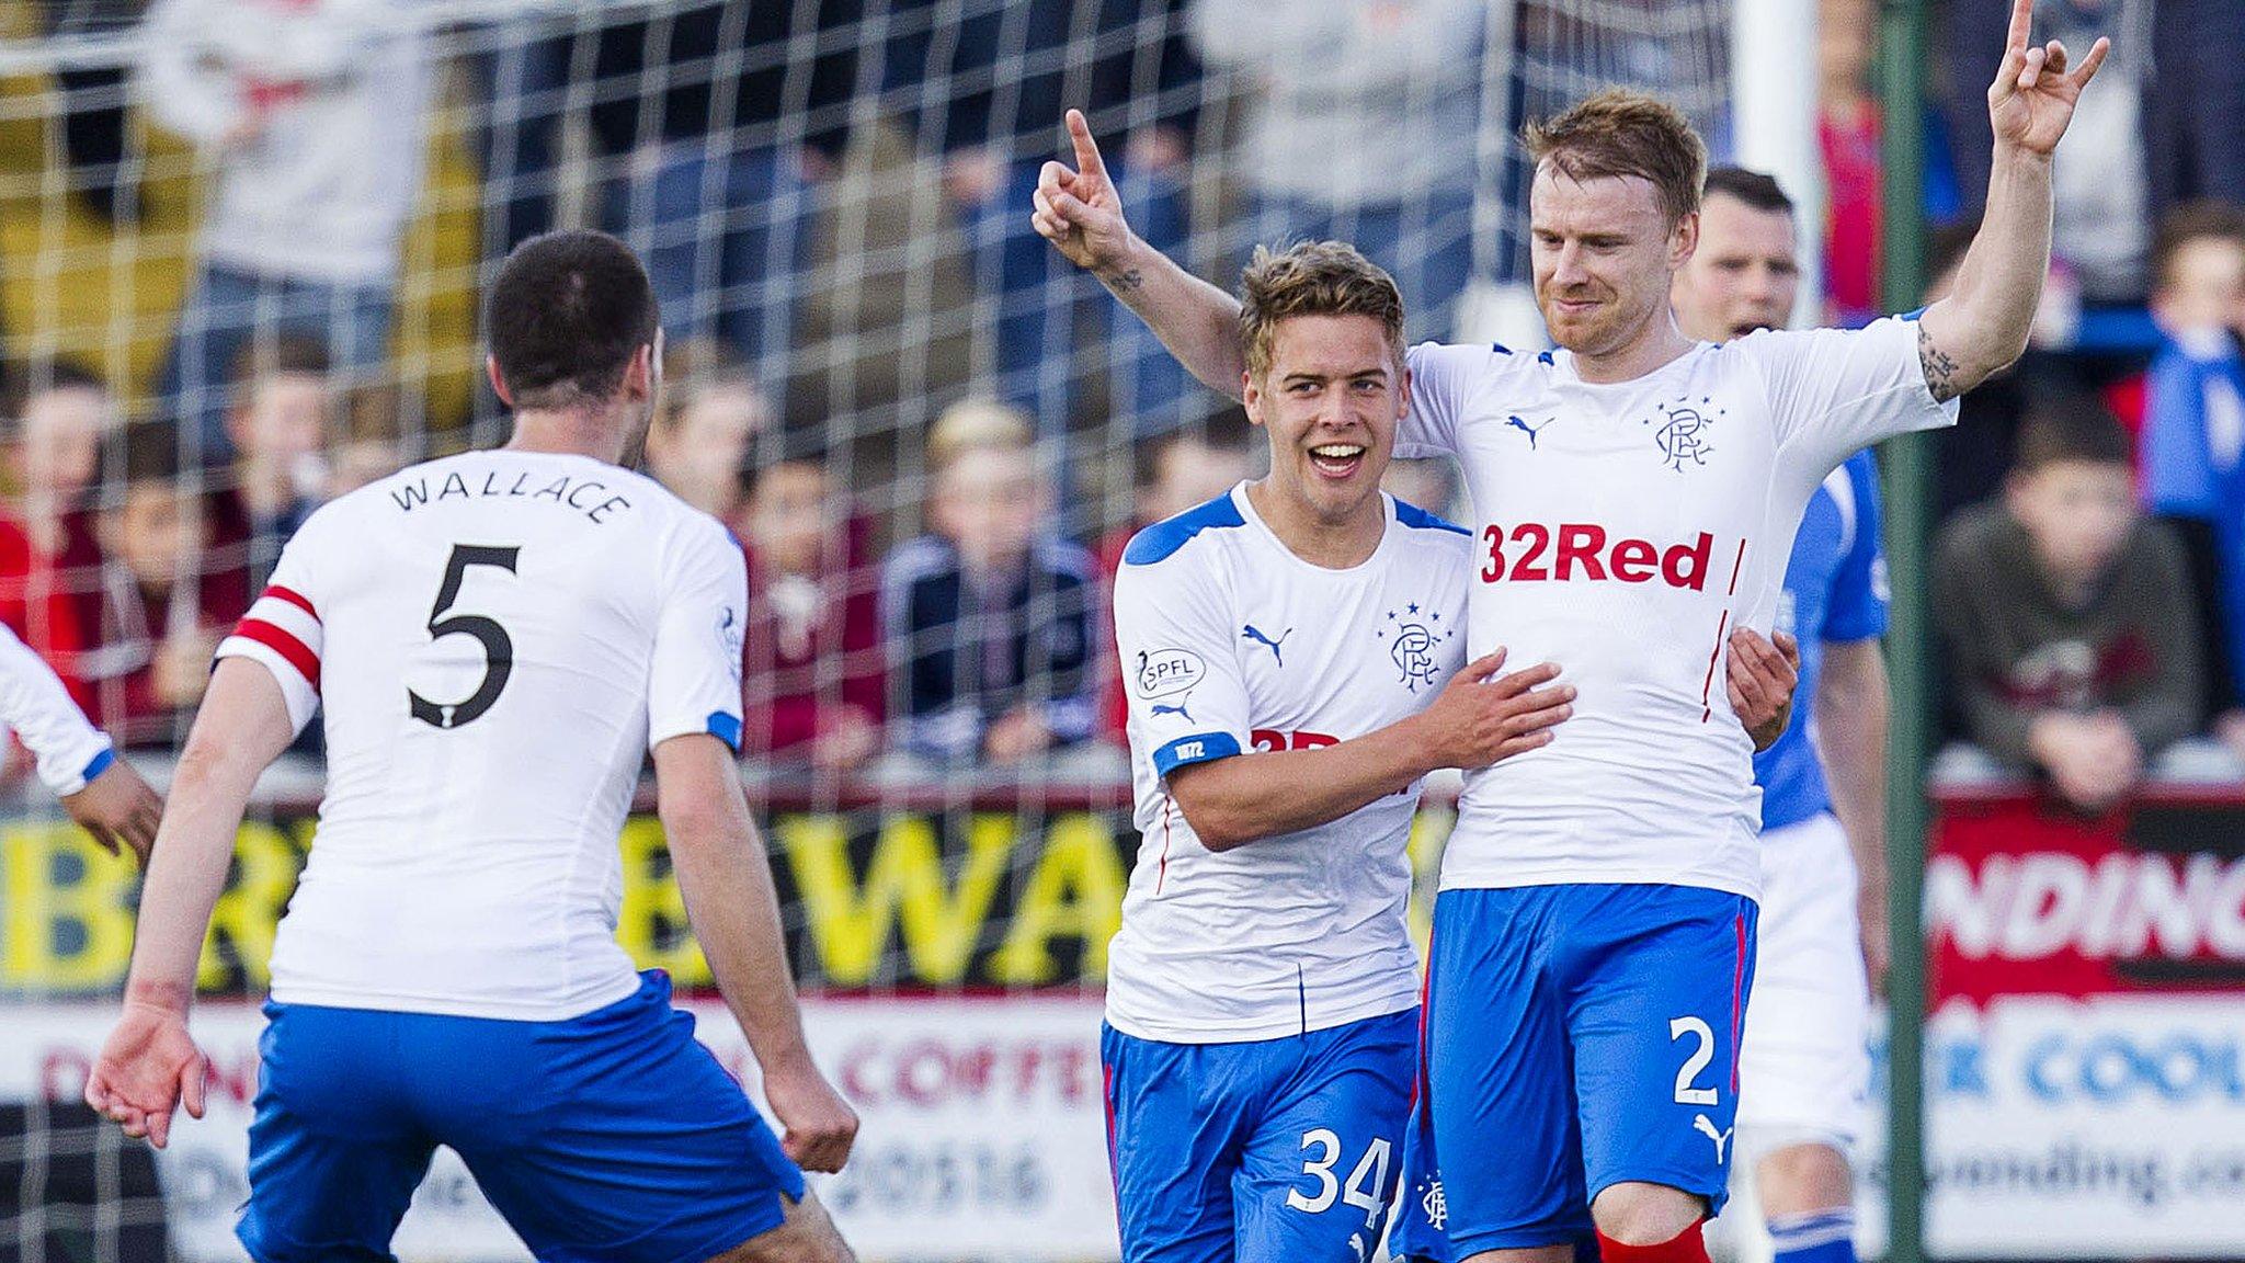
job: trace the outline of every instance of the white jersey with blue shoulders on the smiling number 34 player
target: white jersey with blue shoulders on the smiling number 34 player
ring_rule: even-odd
[[[1143,841],[1107,964],[1118,1032],[1239,1043],[1417,1002],[1403,928],[1417,784],[1228,852],[1201,845],[1167,784],[1188,764],[1385,728],[1464,665],[1470,539],[1387,506],[1378,548],[1345,571],[1286,548],[1246,483],[1125,551],[1116,647]]]

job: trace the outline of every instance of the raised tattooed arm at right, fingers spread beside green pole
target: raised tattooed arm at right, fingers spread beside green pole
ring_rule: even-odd
[[[1996,130],[1987,213],[1955,288],[1926,308],[1917,326],[1917,357],[1937,400],[1978,387],[2027,348],[2034,303],[2050,272],[2050,155],[2113,47],[2099,38],[2081,65],[2068,70],[2072,58],[2059,40],[2027,47],[2032,25],[2034,0],[2016,0],[2003,67],[1987,90]]]

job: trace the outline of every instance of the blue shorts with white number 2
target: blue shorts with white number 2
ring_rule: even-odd
[[[1753,926],[1686,885],[1444,890],[1390,1250],[1578,1245],[1625,1180],[1720,1211]]]

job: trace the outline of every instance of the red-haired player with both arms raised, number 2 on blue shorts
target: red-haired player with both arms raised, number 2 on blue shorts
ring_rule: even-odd
[[[1455,454],[1479,517],[1468,652],[1565,658],[1554,739],[1466,780],[1444,852],[1399,1252],[1704,1263],[1753,973],[1760,793],[1726,690],[1733,625],[1771,627],[1792,535],[1857,449],[1951,425],[2027,344],[2050,162],[2081,88],[2018,0],[1989,88],[1987,216],[1953,292],[1866,330],[1677,330],[1704,144],[1603,92],[1529,130],[1536,294],[1558,351],[1421,346],[1396,454]],[[1215,389],[1237,303],[1136,240],[1078,115],[1037,231]],[[1531,1155],[1522,1160],[1522,1155]]]

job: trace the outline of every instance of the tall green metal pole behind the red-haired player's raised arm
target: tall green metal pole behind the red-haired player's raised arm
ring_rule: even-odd
[[[1881,285],[1888,310],[1913,310],[1924,290],[1926,225],[1919,207],[1924,171],[1926,4],[1884,0],[1879,22],[1881,99]],[[1893,573],[1888,663],[1895,688],[1888,733],[1886,845],[1895,966],[1888,975],[1886,1025],[1886,1207],[1888,1263],[1922,1263],[1924,1236],[1924,1029],[1926,935],[1926,744],[1933,715],[1933,636],[1926,609],[1926,535],[1931,517],[1926,436],[1886,443],[1888,535]]]

